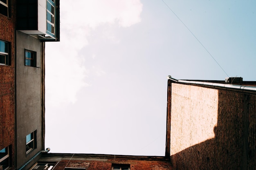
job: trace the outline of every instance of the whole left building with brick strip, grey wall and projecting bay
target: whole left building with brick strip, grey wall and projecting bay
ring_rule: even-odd
[[[59,41],[59,0],[0,0],[0,170],[44,150],[47,41]]]

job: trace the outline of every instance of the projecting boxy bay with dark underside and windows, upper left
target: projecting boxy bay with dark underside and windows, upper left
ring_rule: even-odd
[[[60,41],[59,0],[17,0],[17,30],[43,42]]]

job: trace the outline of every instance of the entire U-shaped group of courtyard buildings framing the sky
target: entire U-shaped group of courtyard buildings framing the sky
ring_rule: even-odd
[[[256,169],[256,82],[240,77],[169,77],[165,156],[47,153],[45,42],[59,40],[59,0],[0,0],[0,170]]]

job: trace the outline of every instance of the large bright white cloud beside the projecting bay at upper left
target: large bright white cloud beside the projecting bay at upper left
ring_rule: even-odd
[[[87,37],[102,24],[128,27],[140,22],[139,0],[61,0],[61,42],[46,43],[46,104],[60,106],[76,102],[76,94],[85,86],[89,71],[79,51],[88,45]],[[106,31],[109,40],[115,39]],[[94,58],[95,56],[93,56]],[[106,74],[101,69],[98,76]]]

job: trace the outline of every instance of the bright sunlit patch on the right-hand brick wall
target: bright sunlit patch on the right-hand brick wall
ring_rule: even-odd
[[[172,84],[171,93],[171,155],[214,138],[218,90]]]

